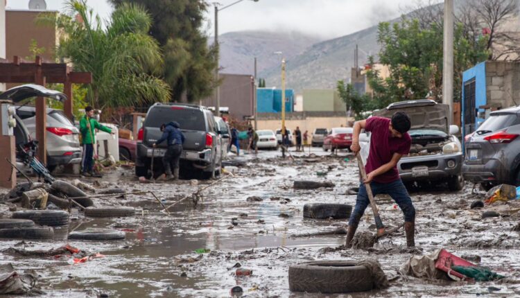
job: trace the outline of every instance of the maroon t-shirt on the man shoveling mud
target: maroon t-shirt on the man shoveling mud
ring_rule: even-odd
[[[365,166],[367,174],[390,162],[394,153],[407,155],[410,152],[412,143],[410,134],[406,132],[401,138],[392,137],[389,127],[390,119],[388,118],[370,117],[367,119],[365,130],[372,132],[370,136],[370,152]],[[388,172],[374,177],[374,182],[390,183],[397,179],[399,179],[399,170],[395,166]]]

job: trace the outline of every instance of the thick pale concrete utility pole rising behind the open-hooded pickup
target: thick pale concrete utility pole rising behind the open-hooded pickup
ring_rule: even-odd
[[[444,0],[444,62],[442,66],[442,103],[449,105],[453,121],[453,0]]]

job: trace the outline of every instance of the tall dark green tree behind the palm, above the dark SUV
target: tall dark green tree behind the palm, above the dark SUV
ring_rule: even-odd
[[[210,96],[216,82],[214,70],[216,48],[208,48],[208,37],[202,33],[205,0],[110,0],[116,7],[138,3],[153,17],[148,31],[164,53],[164,80],[170,85],[172,99],[188,101]],[[220,82],[219,82],[220,83]]]

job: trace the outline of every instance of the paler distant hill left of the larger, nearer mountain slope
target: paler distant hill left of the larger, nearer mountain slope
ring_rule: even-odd
[[[257,70],[260,73],[279,66],[281,57],[274,52],[281,51],[286,59],[291,59],[321,41],[318,37],[301,33],[268,31],[239,31],[225,33],[218,38],[220,72],[251,75],[254,74],[254,57],[257,57]]]

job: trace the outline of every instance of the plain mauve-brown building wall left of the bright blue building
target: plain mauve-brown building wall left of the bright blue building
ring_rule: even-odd
[[[220,107],[229,107],[229,115],[243,120],[245,116],[252,116],[254,81],[250,75],[236,75],[220,73]],[[202,105],[215,107],[215,96],[201,101]]]

